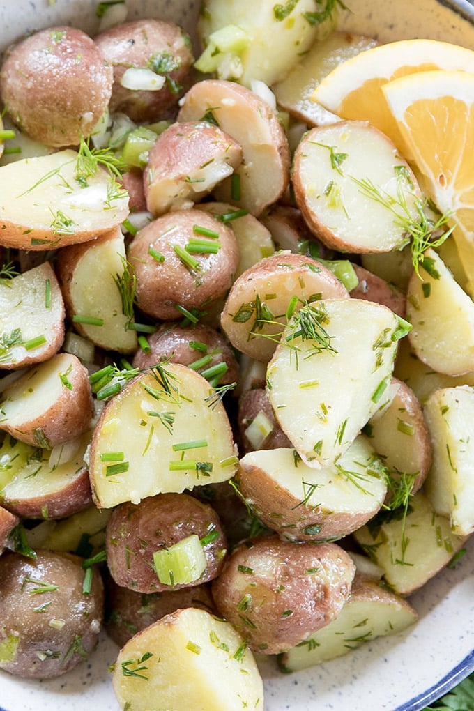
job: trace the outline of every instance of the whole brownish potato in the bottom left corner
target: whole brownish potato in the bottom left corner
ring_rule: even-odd
[[[104,589],[93,569],[90,594],[84,594],[84,577],[75,555],[38,550],[35,559],[16,553],[1,556],[0,643],[18,639],[18,644],[11,658],[0,661],[0,668],[21,677],[50,678],[87,658],[97,643]],[[52,589],[35,594],[46,586]],[[36,609],[45,603],[38,614]]]

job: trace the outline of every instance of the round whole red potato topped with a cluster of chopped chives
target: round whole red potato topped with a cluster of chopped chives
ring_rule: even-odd
[[[193,247],[193,240],[216,251],[193,252],[200,248]],[[227,293],[239,250],[232,230],[212,215],[176,210],[140,230],[128,258],[136,273],[139,308],[154,319],[172,320],[180,313],[177,306],[205,309]]]

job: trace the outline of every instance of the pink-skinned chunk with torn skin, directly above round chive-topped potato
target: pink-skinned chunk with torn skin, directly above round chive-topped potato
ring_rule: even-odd
[[[198,203],[242,161],[237,141],[207,121],[178,122],[150,149],[144,170],[146,206],[153,215]]]

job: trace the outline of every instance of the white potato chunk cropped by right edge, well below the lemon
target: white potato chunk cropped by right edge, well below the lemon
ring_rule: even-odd
[[[424,491],[454,533],[474,532],[474,391],[446,387],[433,392],[424,407],[433,444],[433,464]]]

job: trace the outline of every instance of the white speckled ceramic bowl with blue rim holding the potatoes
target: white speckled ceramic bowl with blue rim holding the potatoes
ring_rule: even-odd
[[[225,0],[222,0],[225,2]],[[257,0],[258,1],[258,0]],[[474,8],[464,0],[349,0],[341,26],[382,41],[444,39],[474,48]],[[97,0],[0,0],[0,46],[24,32],[71,23],[94,33]],[[193,31],[198,1],[127,0],[129,18],[173,19]],[[453,570],[411,598],[419,622],[317,668],[281,675],[261,663],[266,711],[418,711],[474,670],[474,540]],[[0,711],[117,711],[109,665],[117,647],[107,638],[87,665],[44,682],[0,673]],[[225,711],[225,710],[222,710]]]

